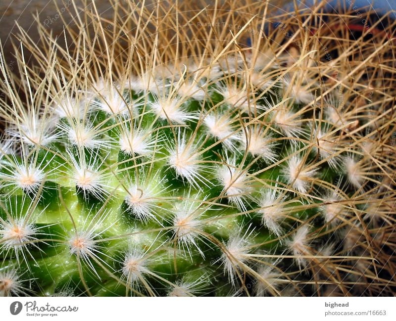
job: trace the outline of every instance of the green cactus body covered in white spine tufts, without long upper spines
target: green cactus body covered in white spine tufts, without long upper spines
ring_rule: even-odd
[[[57,66],[44,83],[63,87],[27,113],[6,83],[14,103],[2,105],[12,117],[1,147],[1,291],[22,293],[18,265],[34,278],[57,257],[68,262],[50,273],[61,275],[57,287],[72,282],[90,295],[119,294],[120,285],[135,295],[302,294],[304,273],[345,292],[345,273],[333,273],[370,270],[367,232],[355,218],[365,213],[370,235],[378,220],[394,224],[379,210],[381,196],[364,202],[373,184],[384,185],[376,176],[390,166],[383,148],[391,147],[362,136],[373,124],[356,123],[353,100],[345,112],[330,91],[314,108],[327,85],[318,92],[315,72],[301,69],[311,56],[291,50],[268,67],[269,52],[246,54],[198,68],[174,61],[91,86],[56,79]],[[113,283],[98,289],[102,279]]]

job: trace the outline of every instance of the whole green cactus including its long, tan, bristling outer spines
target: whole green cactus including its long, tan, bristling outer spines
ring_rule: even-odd
[[[394,293],[393,22],[186,2],[1,57],[0,295]]]

